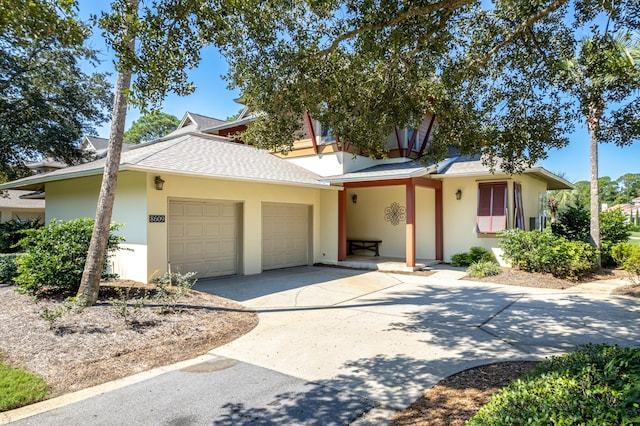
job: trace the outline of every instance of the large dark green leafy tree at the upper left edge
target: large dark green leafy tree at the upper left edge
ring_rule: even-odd
[[[72,1],[0,0],[0,172],[27,174],[24,161],[83,157],[78,141],[108,118],[111,86],[89,74],[96,52]],[[84,65],[83,65],[84,67]]]

